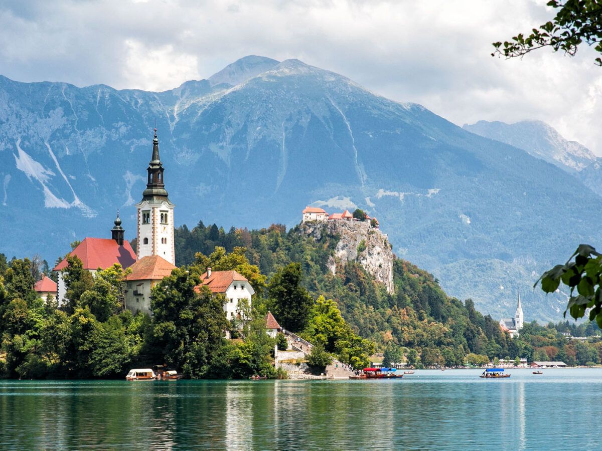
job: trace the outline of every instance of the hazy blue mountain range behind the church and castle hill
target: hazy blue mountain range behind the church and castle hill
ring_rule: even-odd
[[[533,282],[602,238],[602,198],[557,164],[337,73],[249,56],[160,93],[0,76],[0,252],[52,262],[110,236],[117,208],[134,238],[155,123],[176,225],[361,207],[398,256],[496,318],[518,290],[526,321],[561,318],[565,296]]]

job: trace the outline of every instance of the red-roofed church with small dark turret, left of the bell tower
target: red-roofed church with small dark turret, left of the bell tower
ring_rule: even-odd
[[[123,240],[123,229],[119,213],[115,219],[115,227],[111,230],[113,238],[84,238],[84,241],[73,249],[69,255],[81,260],[84,269],[95,274],[98,269],[107,269],[119,263],[123,269],[134,265],[136,254],[129,242]],[[67,286],[63,278],[63,270],[67,268],[67,258],[54,267],[58,272],[58,305],[65,304]]]

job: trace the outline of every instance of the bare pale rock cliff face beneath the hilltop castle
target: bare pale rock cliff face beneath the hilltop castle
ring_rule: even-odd
[[[334,257],[327,266],[335,274],[337,262],[358,262],[374,279],[393,293],[393,260],[387,236],[379,229],[370,227],[370,222],[359,221],[310,221],[301,224],[300,231],[320,241],[324,235],[340,237]]]

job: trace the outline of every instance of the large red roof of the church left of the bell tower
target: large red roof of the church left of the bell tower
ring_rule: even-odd
[[[123,246],[120,246],[109,238],[84,238],[69,255],[78,256],[84,269],[107,269],[114,263],[119,263],[125,269],[136,261],[136,254],[129,242],[124,241]],[[61,271],[66,267],[67,259],[64,259],[54,267],[54,271]]]

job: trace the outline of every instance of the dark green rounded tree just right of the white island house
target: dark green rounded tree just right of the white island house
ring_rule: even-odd
[[[314,304],[302,282],[300,263],[290,263],[273,275],[267,289],[274,316],[282,327],[297,332],[305,329]]]

